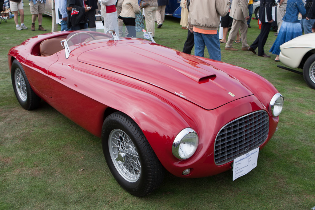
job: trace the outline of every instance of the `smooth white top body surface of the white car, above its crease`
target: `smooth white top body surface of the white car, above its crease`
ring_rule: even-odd
[[[285,48],[315,48],[315,33],[308,33],[295,37],[294,39],[281,45],[281,49]]]

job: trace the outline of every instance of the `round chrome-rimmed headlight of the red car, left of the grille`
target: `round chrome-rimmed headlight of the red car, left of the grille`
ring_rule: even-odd
[[[183,129],[173,142],[173,155],[180,160],[191,157],[197,150],[198,141],[198,135],[192,128]]]

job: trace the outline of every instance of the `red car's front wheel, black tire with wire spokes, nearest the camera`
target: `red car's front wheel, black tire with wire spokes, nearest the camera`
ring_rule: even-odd
[[[141,129],[129,116],[122,112],[107,116],[101,140],[107,165],[127,192],[145,196],[162,183],[164,167]]]

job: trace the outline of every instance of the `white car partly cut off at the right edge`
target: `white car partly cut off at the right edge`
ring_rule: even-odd
[[[280,46],[279,59],[290,68],[303,69],[303,77],[315,89],[315,33],[296,37]]]

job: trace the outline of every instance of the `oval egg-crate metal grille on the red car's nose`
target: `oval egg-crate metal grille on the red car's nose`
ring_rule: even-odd
[[[215,164],[222,165],[262,145],[268,137],[266,111],[241,116],[221,128],[215,139]]]

